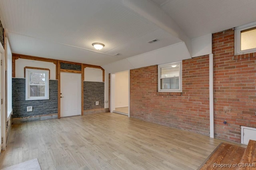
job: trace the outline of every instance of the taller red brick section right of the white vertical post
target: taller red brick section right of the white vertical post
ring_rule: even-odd
[[[212,51],[215,137],[240,143],[240,126],[256,127],[256,53],[234,56],[232,29],[213,34]]]

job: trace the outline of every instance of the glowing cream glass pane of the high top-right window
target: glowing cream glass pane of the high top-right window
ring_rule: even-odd
[[[256,48],[256,27],[241,31],[241,51]]]

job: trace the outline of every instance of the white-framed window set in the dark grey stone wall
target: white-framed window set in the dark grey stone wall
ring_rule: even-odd
[[[26,68],[26,100],[49,100],[49,70]]]

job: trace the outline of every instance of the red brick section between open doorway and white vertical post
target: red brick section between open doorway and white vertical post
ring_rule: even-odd
[[[157,76],[156,65],[130,70],[130,116],[209,135],[209,56],[182,61],[182,96],[157,92]]]

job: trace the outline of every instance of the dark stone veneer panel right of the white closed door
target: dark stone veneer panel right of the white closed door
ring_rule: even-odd
[[[104,108],[104,88],[104,82],[84,81],[84,110]],[[98,106],[96,101],[99,101]]]

